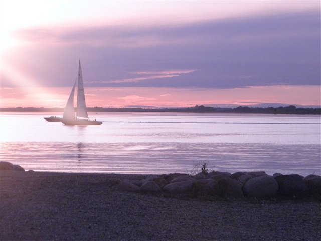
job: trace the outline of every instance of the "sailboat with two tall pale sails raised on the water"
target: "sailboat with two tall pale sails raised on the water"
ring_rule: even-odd
[[[75,93],[77,80],[78,80],[77,111],[75,115],[74,93]],[[101,125],[102,124],[102,122],[96,121],[96,119],[91,120],[88,117],[80,60],[79,60],[78,78],[76,79],[74,86],[70,92],[61,122],[65,125]]]

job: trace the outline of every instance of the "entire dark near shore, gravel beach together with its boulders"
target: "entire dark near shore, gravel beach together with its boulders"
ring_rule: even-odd
[[[0,178],[0,240],[321,239],[317,175],[45,173],[1,162]]]

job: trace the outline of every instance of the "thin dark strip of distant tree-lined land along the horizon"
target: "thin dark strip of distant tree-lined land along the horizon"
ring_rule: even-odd
[[[63,108],[36,108],[36,107],[15,107],[0,108],[1,112],[63,112]],[[207,107],[196,105],[185,108],[103,108],[87,107],[89,112],[170,112],[170,113],[258,113],[258,114],[318,114],[321,115],[321,108],[297,108],[294,105],[286,107],[247,107],[236,108]]]

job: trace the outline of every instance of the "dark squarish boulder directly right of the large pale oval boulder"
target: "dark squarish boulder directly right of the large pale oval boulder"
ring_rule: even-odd
[[[279,175],[274,177],[279,185],[278,194],[283,196],[303,196],[308,193],[308,187],[298,174]]]

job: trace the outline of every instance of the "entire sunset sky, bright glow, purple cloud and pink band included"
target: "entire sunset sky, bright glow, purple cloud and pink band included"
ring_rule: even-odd
[[[1,1],[1,107],[321,105],[319,1]]]

